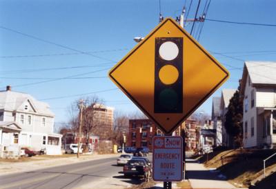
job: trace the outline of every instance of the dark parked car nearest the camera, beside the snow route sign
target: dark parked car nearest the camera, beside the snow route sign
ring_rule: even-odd
[[[144,159],[130,159],[124,166],[124,177],[142,176],[148,181],[151,175],[151,167],[148,166]]]

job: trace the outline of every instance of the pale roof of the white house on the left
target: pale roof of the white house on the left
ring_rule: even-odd
[[[48,103],[37,101],[37,99],[34,99],[30,94],[10,90],[0,91],[0,109],[10,111],[18,110],[18,108],[27,101],[38,114],[51,117],[55,116],[50,110]]]

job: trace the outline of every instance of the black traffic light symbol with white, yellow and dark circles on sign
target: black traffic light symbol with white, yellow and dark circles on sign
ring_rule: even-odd
[[[155,113],[183,112],[183,38],[155,38]]]

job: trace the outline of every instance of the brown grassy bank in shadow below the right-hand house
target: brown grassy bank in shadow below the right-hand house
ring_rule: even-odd
[[[207,168],[219,169],[230,183],[243,187],[250,186],[250,181],[262,175],[263,159],[276,150],[237,149],[217,150],[200,158]],[[276,159],[266,163],[267,169],[276,167]]]

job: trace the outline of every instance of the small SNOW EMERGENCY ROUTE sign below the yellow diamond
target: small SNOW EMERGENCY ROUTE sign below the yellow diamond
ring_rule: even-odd
[[[181,181],[183,179],[182,137],[153,137],[153,180]]]

